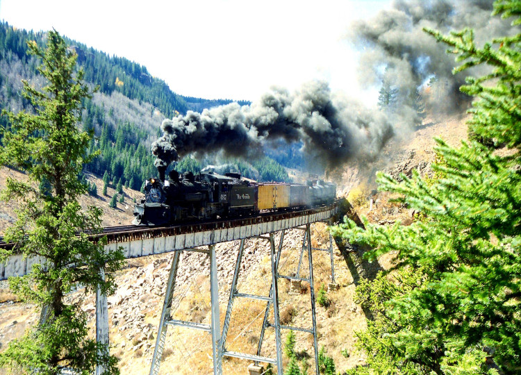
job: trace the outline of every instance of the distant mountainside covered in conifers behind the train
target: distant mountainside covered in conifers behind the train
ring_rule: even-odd
[[[35,40],[44,44],[46,38],[46,33],[0,24],[0,110],[32,110],[21,95],[21,80],[25,79],[37,88],[43,83],[36,70],[38,60],[26,54],[26,42]],[[156,175],[150,146],[160,135],[163,119],[185,114],[187,110],[200,112],[231,102],[229,99],[181,97],[164,81],[151,76],[146,67],[65,39],[78,55],[77,62],[85,72],[85,81],[92,88],[99,88],[92,99],[86,99],[84,103],[82,126],[85,130],[94,129],[96,135],[90,151],[100,151],[100,155],[85,167],[85,172],[99,176],[107,172],[113,185],[121,182],[140,190],[144,179]],[[239,103],[248,104],[246,101]],[[5,116],[0,116],[0,124],[8,126]],[[187,158],[181,160],[176,169],[199,172],[206,164],[215,163],[215,159],[197,163]],[[220,163],[228,163],[228,160]],[[274,160],[261,158],[255,163],[255,167],[247,163],[232,163],[231,167],[263,181],[289,180],[286,171]]]

